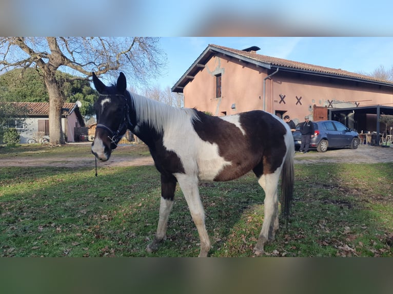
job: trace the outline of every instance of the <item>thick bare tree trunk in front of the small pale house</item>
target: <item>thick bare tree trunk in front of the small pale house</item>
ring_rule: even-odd
[[[45,85],[49,94],[49,141],[53,144],[64,144],[62,128],[63,98],[56,79],[51,74],[45,76]]]

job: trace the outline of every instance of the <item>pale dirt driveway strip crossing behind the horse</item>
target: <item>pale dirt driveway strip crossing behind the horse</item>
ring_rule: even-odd
[[[359,146],[358,149],[328,150],[325,153],[311,151],[307,154],[296,153],[295,163],[317,163],[317,162],[350,162],[350,163],[379,163],[393,162],[393,148],[382,148],[380,146]],[[136,166],[153,165],[151,156],[126,156],[113,153],[111,158],[105,162],[97,162],[97,166]],[[55,166],[55,167],[94,167],[94,157],[10,157],[0,160],[2,166]]]

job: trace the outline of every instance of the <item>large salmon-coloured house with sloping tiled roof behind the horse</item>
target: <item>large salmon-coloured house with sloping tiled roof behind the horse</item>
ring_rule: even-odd
[[[184,94],[185,107],[213,115],[258,109],[289,115],[295,123],[305,115],[328,119],[329,109],[393,106],[393,81],[265,56],[258,50],[209,45],[172,92]],[[357,129],[351,113],[346,125]]]

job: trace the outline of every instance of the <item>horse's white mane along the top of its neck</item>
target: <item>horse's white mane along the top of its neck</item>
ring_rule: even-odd
[[[199,120],[197,112],[189,108],[173,107],[134,93],[130,93],[136,120],[143,121],[162,134],[164,130],[182,128],[187,122]]]

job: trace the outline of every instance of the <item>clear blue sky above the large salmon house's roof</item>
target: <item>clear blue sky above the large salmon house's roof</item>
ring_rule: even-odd
[[[163,37],[168,67],[153,84],[172,87],[209,44],[357,73],[393,67],[393,37]]]

